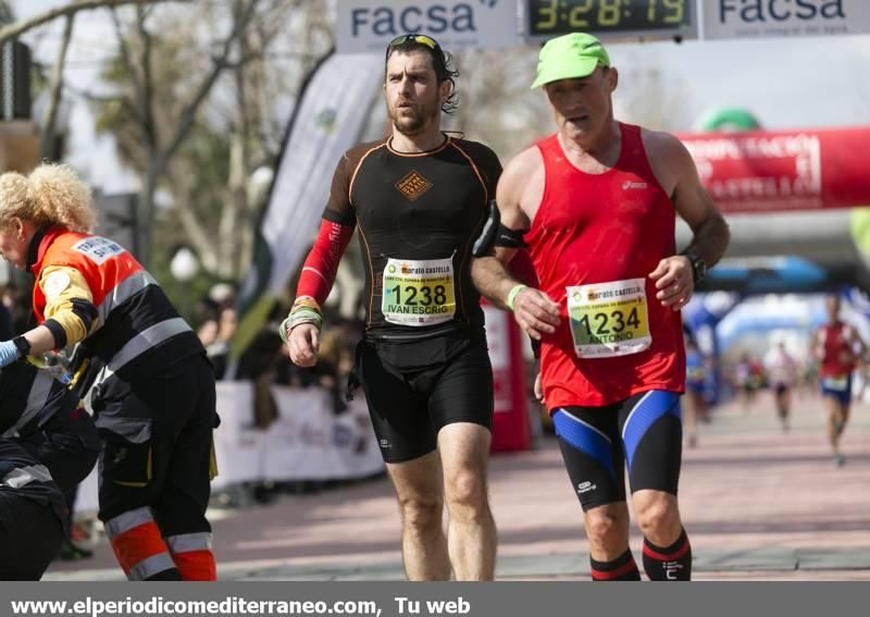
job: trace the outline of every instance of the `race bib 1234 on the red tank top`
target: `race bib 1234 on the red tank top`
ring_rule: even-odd
[[[649,347],[643,279],[567,287],[568,316],[580,358],[612,358]]]

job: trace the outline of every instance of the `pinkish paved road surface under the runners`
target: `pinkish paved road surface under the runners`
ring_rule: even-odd
[[[700,427],[685,452],[681,506],[699,580],[870,580],[870,407],[858,406],[834,466],[820,400],[796,400],[783,434],[763,396]],[[497,455],[490,492],[499,529],[497,577],[587,580],[580,504],[556,442]],[[213,510],[226,580],[400,580],[398,511],[385,479],[269,506]],[[642,538],[632,535],[635,556]],[[92,559],[55,563],[47,580],[122,580],[107,543]]]

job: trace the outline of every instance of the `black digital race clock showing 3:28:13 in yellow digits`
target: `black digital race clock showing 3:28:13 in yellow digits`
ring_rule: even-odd
[[[695,38],[696,0],[525,0],[526,36],[568,33],[598,38]]]

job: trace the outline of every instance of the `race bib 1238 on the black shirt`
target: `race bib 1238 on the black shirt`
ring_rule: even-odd
[[[384,268],[381,312],[389,323],[432,325],[453,319],[453,260],[393,259]]]

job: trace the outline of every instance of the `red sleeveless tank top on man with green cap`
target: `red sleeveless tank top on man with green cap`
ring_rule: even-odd
[[[525,239],[540,289],[561,304],[560,326],[542,341],[542,380],[551,411],[571,405],[609,405],[649,390],[684,391],[680,312],[661,306],[655,282],[648,276],[662,258],[675,252],[675,213],[649,166],[641,127],[620,123],[620,131],[619,160],[601,174],[576,169],[556,135],[537,143],[546,180],[540,207]],[[584,354],[581,358],[568,318],[568,287],[630,280],[637,280],[630,292],[646,295],[645,329],[651,338],[648,347],[616,357]],[[619,295],[625,289],[608,293]],[[577,297],[575,291],[572,296]],[[625,314],[617,316],[619,320],[613,319],[612,309],[604,318],[589,312],[585,326],[592,326],[592,331],[597,328],[598,334],[624,332],[629,311],[622,312]],[[629,321],[635,325],[638,319],[643,322],[635,313],[632,318]]]

